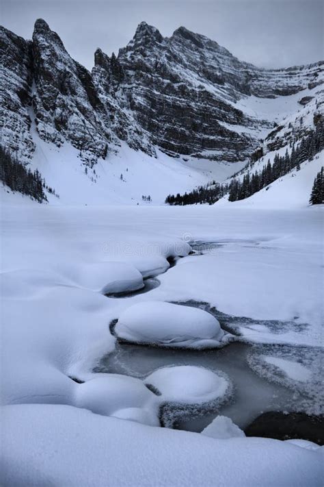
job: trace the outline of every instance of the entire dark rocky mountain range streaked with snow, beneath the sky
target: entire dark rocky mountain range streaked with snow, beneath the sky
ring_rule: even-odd
[[[37,131],[57,147],[70,142],[90,165],[118,151],[120,141],[152,156],[159,148],[235,162],[248,158],[273,128],[262,114],[243,110],[242,100],[284,100],[317,86],[316,110],[323,101],[323,62],[256,68],[185,27],[163,38],[140,23],[117,57],[97,49],[90,73],[39,19],[32,40],[0,27],[0,57],[0,143],[23,160],[33,157]],[[304,107],[309,100],[302,96]],[[299,121],[294,137],[303,135],[301,127]],[[286,145],[286,133],[284,125],[275,129],[265,141],[269,150]]]

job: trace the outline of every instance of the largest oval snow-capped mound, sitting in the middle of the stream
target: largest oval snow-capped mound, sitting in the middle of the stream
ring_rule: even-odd
[[[210,313],[189,306],[146,301],[127,308],[115,328],[119,338],[160,347],[219,347],[224,332]]]

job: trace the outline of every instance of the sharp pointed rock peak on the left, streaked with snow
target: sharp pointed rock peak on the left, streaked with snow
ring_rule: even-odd
[[[33,109],[40,137],[57,146],[70,140],[81,153],[104,157],[111,131],[92,77],[42,20],[35,24],[32,58]]]

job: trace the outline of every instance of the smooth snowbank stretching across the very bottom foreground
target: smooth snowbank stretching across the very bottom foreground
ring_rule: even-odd
[[[219,440],[67,405],[1,412],[5,487],[321,487],[322,449],[268,438]]]

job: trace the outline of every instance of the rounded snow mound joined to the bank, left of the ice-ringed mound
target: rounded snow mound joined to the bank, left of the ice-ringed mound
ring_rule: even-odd
[[[158,426],[156,396],[139,379],[126,375],[105,374],[79,384],[75,403],[103,416],[117,416],[151,426]]]

